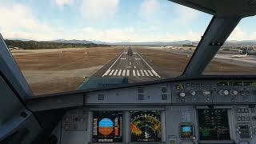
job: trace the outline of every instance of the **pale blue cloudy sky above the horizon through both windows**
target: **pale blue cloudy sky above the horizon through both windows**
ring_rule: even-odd
[[[105,42],[200,40],[210,14],[166,0],[0,0],[4,38]],[[256,39],[245,18],[230,40]]]

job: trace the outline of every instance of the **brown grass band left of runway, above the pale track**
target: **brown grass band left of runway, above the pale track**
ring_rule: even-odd
[[[104,65],[120,50],[119,47],[97,47],[21,54],[14,55],[14,58],[21,70],[74,70]]]

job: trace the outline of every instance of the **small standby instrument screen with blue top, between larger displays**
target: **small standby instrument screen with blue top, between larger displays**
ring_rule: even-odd
[[[181,138],[190,139],[193,137],[193,125],[181,124],[179,126]]]

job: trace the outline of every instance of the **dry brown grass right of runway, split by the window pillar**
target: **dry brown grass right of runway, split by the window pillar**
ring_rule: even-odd
[[[165,78],[181,75],[190,61],[190,57],[186,55],[174,54],[164,50],[146,48],[137,48],[136,50]],[[206,67],[205,74],[255,74],[256,66],[241,66],[231,64],[235,62],[229,62],[229,60],[224,61],[226,62],[214,58]]]

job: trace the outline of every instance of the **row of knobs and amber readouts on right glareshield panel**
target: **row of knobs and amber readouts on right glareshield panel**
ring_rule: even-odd
[[[226,104],[256,102],[254,81],[175,82],[172,88],[175,104]]]

